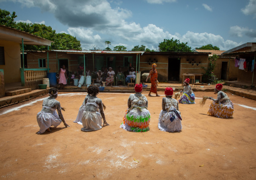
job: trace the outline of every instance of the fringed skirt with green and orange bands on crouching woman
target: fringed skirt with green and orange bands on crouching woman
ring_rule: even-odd
[[[146,108],[133,108],[125,112],[121,128],[127,131],[146,132],[149,130],[150,113]]]

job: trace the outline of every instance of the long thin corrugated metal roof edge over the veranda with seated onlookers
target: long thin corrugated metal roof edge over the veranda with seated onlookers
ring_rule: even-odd
[[[102,53],[102,54],[141,54],[145,53],[145,51],[76,51],[76,50],[51,50],[54,52],[62,52],[62,53]],[[49,51],[49,52],[51,52]]]

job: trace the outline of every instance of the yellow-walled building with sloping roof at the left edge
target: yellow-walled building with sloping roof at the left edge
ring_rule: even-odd
[[[44,45],[50,46],[51,41],[40,38],[38,36],[0,25],[0,74],[1,74],[1,92],[5,95],[5,85],[11,83],[22,83],[25,86],[24,72],[25,69],[23,59],[21,58],[21,45]],[[23,47],[23,46],[22,46]],[[38,71],[32,69],[31,71]],[[42,70],[39,70],[42,71]],[[42,77],[37,77],[42,80]]]

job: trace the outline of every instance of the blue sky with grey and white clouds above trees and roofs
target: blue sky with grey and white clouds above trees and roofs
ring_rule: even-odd
[[[89,50],[145,45],[158,49],[178,39],[195,49],[229,50],[256,42],[256,0],[0,0],[17,22],[42,23],[67,33]]]

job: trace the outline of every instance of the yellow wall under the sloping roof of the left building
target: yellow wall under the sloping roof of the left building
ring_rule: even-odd
[[[0,46],[5,49],[5,65],[0,65],[0,69],[4,69],[5,84],[21,82],[20,44],[0,40]]]

